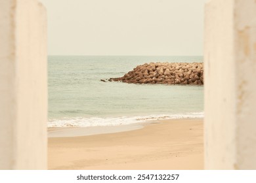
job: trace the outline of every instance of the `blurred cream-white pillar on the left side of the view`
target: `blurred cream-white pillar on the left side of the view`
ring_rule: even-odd
[[[46,11],[0,0],[0,169],[47,169]]]

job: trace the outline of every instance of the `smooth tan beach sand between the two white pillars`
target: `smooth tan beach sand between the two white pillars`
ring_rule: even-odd
[[[49,169],[203,169],[203,120],[163,120],[132,131],[54,137],[48,146]]]

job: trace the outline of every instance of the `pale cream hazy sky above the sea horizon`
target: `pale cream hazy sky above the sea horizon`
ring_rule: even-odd
[[[207,0],[40,0],[49,55],[201,56]]]

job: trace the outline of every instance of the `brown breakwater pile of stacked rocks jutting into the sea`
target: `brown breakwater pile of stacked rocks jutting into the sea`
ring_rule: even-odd
[[[144,63],[121,78],[121,81],[135,84],[203,84],[203,63]]]

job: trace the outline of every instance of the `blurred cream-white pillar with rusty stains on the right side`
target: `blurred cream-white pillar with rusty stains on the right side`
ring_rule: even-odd
[[[205,6],[205,169],[256,169],[256,1]]]

